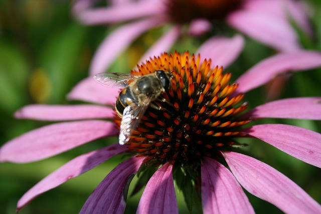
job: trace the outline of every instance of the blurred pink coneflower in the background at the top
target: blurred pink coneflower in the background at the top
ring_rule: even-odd
[[[110,1],[110,6],[93,8],[95,1],[78,0],[73,14],[85,25],[119,24],[99,46],[91,62],[92,75],[105,72],[113,60],[144,32],[167,25],[166,32],[141,57],[168,51],[180,35],[203,35],[230,26],[281,52],[300,49],[292,20],[311,34],[307,14],[293,0],[139,0]],[[108,53],[107,55],[105,53]],[[152,53],[152,54],[151,54]]]

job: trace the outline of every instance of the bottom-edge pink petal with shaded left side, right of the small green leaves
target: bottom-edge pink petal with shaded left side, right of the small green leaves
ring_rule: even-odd
[[[204,213],[254,213],[242,187],[224,165],[205,158],[201,166]]]

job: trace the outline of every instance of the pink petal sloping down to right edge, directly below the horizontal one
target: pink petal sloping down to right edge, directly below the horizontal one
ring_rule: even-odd
[[[321,134],[317,132],[284,124],[256,125],[243,132],[321,168]]]

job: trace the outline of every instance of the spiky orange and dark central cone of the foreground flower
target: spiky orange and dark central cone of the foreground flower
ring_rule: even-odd
[[[231,149],[238,128],[249,122],[237,118],[247,108],[243,94],[231,97],[238,85],[228,84],[231,74],[213,68],[211,60],[200,63],[200,56],[175,52],[137,67],[134,75],[159,69],[173,74],[172,89],[162,94],[166,102],[154,103],[162,109],[149,107],[128,143],[147,163],[188,165],[216,157],[218,150]]]

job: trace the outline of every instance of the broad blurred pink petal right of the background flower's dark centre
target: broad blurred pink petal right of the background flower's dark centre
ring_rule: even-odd
[[[227,23],[247,36],[282,52],[300,49],[296,34],[286,19],[256,11],[231,13]]]

